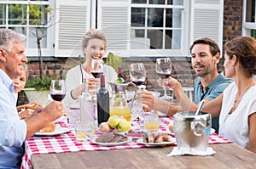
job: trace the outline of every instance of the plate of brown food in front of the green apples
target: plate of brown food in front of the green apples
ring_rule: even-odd
[[[127,144],[131,142],[131,140],[132,138],[129,138],[124,134],[108,132],[108,133],[102,134],[98,138],[92,138],[91,143],[102,145],[102,146],[116,146],[116,145]]]

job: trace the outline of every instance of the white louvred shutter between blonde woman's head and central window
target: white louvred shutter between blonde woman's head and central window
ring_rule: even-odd
[[[98,0],[97,28],[106,35],[108,50],[130,48],[131,0]]]

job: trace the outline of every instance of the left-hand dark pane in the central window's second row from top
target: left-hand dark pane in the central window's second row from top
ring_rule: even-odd
[[[131,26],[145,25],[145,8],[131,8]]]

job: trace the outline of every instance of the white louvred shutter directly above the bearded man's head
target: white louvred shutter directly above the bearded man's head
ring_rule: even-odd
[[[224,0],[192,0],[190,44],[201,37],[223,43]]]

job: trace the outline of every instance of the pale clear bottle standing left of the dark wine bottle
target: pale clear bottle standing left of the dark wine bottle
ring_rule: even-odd
[[[94,122],[94,105],[90,93],[87,91],[85,79],[83,80],[84,92],[79,97],[80,121]]]

